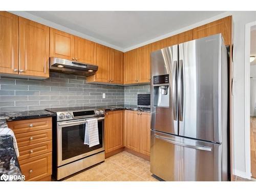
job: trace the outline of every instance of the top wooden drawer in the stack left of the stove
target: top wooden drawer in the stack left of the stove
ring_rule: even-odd
[[[26,119],[7,122],[8,127],[14,134],[27,133],[37,130],[46,130],[52,128],[52,118]]]

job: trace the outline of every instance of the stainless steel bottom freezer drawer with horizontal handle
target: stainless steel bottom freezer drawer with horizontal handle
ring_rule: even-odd
[[[151,131],[151,172],[165,181],[226,181],[221,147]]]

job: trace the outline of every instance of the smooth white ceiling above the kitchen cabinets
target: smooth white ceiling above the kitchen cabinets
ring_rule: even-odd
[[[224,11],[27,11],[122,50]]]

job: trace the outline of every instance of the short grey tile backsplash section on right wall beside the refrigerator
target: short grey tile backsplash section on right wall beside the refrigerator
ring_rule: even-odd
[[[150,85],[124,87],[124,104],[137,105],[137,93],[150,93]]]

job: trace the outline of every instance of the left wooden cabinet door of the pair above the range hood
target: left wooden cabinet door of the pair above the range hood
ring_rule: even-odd
[[[75,36],[50,28],[50,57],[75,60]]]

